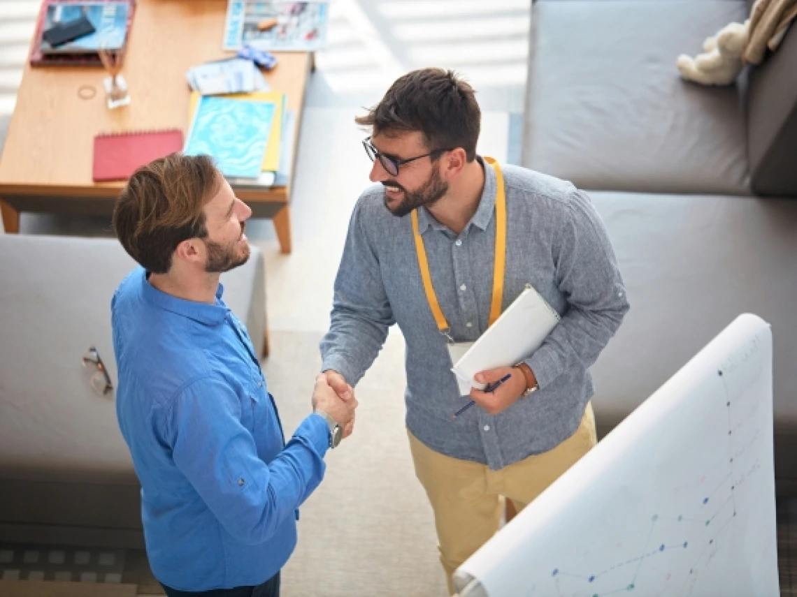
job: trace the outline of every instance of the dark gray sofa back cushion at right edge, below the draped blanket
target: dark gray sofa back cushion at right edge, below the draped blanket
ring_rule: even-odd
[[[748,142],[752,189],[797,197],[797,25],[751,69]]]

